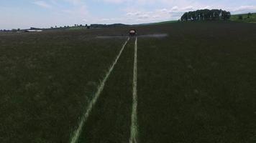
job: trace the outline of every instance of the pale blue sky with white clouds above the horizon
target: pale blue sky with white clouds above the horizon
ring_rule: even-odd
[[[144,24],[177,20],[196,9],[256,12],[256,0],[0,0],[0,29]]]

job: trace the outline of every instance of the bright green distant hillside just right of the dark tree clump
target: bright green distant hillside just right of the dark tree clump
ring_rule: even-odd
[[[242,16],[242,19],[239,19],[239,16]],[[248,17],[248,14],[235,14],[230,18],[231,21],[247,22],[247,23],[256,23],[256,13],[252,13]]]

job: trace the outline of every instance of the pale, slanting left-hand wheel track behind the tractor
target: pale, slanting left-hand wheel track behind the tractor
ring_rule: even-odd
[[[106,73],[103,81],[100,83],[98,90],[96,92],[96,94],[94,95],[93,99],[91,100],[91,102],[88,104],[87,110],[85,112],[85,114],[83,114],[83,117],[81,119],[81,122],[78,125],[78,128],[76,129],[76,131],[73,133],[73,137],[71,138],[70,143],[76,143],[78,142],[78,138],[81,134],[82,128],[83,128],[83,124],[86,122],[91,109],[93,108],[93,105],[96,103],[97,99],[99,98],[102,90],[104,89],[105,86],[105,82],[106,80],[109,78],[109,75],[111,74],[111,71],[114,69],[114,66],[116,65],[116,62],[118,61],[119,57],[122,54],[122,51],[124,51],[124,47],[127,45],[127,42],[129,41],[129,38],[127,39],[127,41],[125,41],[124,45],[122,46],[122,49],[119,51],[119,54],[116,56],[115,61],[113,62],[113,64],[110,66],[109,71]]]

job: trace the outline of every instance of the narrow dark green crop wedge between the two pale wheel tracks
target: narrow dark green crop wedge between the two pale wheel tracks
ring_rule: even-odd
[[[106,81],[78,142],[129,142],[132,112],[134,39]]]

